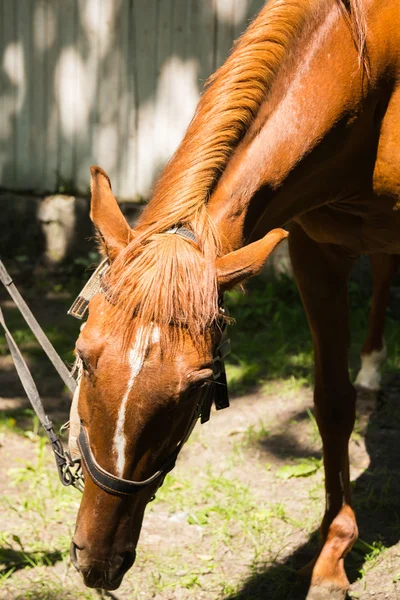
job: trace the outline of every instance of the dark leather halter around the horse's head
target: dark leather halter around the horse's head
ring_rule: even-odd
[[[186,229],[185,227],[177,226],[174,227],[166,233],[180,235],[191,242],[197,244],[196,237],[192,231]],[[98,283],[96,281],[96,287],[99,285],[100,290],[104,292],[104,288],[101,284],[101,276],[104,274],[106,270],[106,265],[102,263],[95,272],[95,276],[98,278]],[[108,267],[108,262],[107,262]],[[88,284],[85,286],[84,290],[89,288]],[[97,289],[99,291],[99,289]],[[97,293],[97,291],[95,293]],[[73,306],[70,309],[70,314],[73,314],[77,318],[82,318],[83,314],[86,312],[87,305],[89,304],[89,296],[92,296],[94,289],[90,289],[89,293],[86,294],[85,297],[85,306],[83,308],[83,304],[79,303],[79,309],[77,302],[81,295],[75,301]],[[94,295],[94,294],[93,294]],[[73,310],[74,309],[74,310]],[[193,417],[188,425],[186,433],[176,448],[170,453],[167,460],[164,462],[163,466],[156,471],[151,477],[145,479],[144,481],[132,481],[128,479],[123,479],[122,477],[117,477],[112,473],[109,473],[105,469],[103,469],[99,463],[96,461],[93,456],[93,452],[90,448],[90,440],[89,434],[85,428],[85,426],[81,423],[81,428],[79,432],[79,436],[77,439],[78,448],[81,453],[82,463],[85,466],[87,474],[90,476],[92,481],[100,487],[102,490],[109,494],[113,494],[114,496],[126,497],[132,496],[151,486],[152,484],[158,482],[157,489],[162,485],[165,476],[172,471],[175,466],[176,459],[178,457],[179,452],[181,451],[183,445],[188,440],[190,434],[193,431],[193,428],[197,422],[197,419],[201,417],[201,423],[205,423],[210,418],[211,406],[214,401],[215,407],[217,410],[222,408],[227,408],[229,406],[229,398],[227,393],[227,382],[226,382],[226,374],[224,367],[224,358],[230,351],[230,341],[226,336],[226,321],[225,317],[225,308],[223,304],[223,298],[221,297],[219,300],[219,309],[221,314],[221,331],[222,337],[218,346],[214,350],[213,357],[213,380],[215,382],[215,394],[209,390],[203,396],[200,402],[198,403]]]

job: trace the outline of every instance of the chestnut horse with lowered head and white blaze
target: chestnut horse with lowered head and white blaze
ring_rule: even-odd
[[[370,254],[365,354],[380,359],[379,315],[400,254],[399,49],[399,0],[270,0],[208,82],[134,230],[92,168],[91,218],[110,269],[76,345],[87,460],[71,554],[87,585],[115,589],[132,565],[145,507],[212,386],[223,292],[261,269],[289,223],[326,476],[308,598],[345,597],[358,533],[347,280]]]

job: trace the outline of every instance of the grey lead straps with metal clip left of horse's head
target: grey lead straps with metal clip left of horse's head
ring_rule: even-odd
[[[68,386],[68,388],[73,393],[76,388],[76,382],[72,379],[70,372],[67,367],[62,362],[61,358],[58,356],[54,347],[47,339],[45,333],[41,329],[40,325],[36,321],[35,317],[31,313],[27,304],[23,300],[22,296],[16,289],[15,285],[12,282],[10,275],[8,274],[5,266],[0,261],[0,280],[6,287],[7,291],[10,293],[10,296],[14,300],[17,308],[22,313],[25,318],[28,326],[31,331],[35,335],[36,339],[41,344],[42,348],[45,350],[48,358],[57,369],[57,372],[61,376],[64,383]],[[67,452],[65,452],[62,442],[56,432],[54,431],[53,423],[46,415],[43,407],[42,400],[40,398],[38,389],[36,387],[35,381],[29,371],[29,367],[25,362],[24,357],[21,354],[20,349],[18,348],[17,343],[15,342],[13,336],[11,335],[7,324],[4,319],[3,312],[0,308],[0,325],[3,328],[4,335],[6,338],[7,345],[10,350],[11,358],[14,362],[15,368],[17,370],[18,376],[21,380],[22,386],[25,390],[26,395],[28,396],[29,402],[32,405],[33,410],[37,418],[39,419],[40,424],[46,431],[47,437],[50,440],[51,449],[54,453],[54,458],[56,461],[58,475],[60,477],[60,481],[63,485],[69,486],[72,485],[79,491],[83,491],[83,476],[82,470],[80,466],[80,461],[72,460]]]

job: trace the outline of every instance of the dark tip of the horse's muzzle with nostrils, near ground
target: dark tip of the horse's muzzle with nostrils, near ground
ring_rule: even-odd
[[[70,546],[71,562],[82,575],[87,587],[103,590],[116,590],[121,585],[125,573],[131,568],[136,558],[136,551],[127,551],[115,555],[109,560],[83,558],[84,551],[72,541]]]

